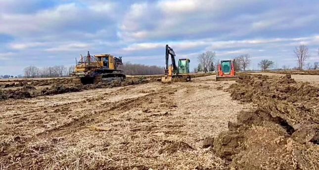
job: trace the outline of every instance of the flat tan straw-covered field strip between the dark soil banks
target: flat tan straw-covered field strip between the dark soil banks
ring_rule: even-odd
[[[208,76],[0,101],[0,168],[227,169],[202,145],[250,107],[222,90],[232,83]]]

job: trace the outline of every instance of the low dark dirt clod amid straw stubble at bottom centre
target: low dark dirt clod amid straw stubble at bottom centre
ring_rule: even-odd
[[[168,154],[173,154],[177,151],[185,151],[185,150],[194,150],[193,147],[188,145],[187,143],[183,141],[163,141],[163,143],[168,143],[165,147],[161,148],[158,153],[168,153]]]

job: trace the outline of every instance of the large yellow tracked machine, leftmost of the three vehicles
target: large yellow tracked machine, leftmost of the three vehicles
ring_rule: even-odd
[[[75,71],[71,74],[76,84],[97,84],[113,80],[122,81],[126,78],[118,66],[122,65],[122,57],[114,57],[111,54],[100,54],[82,56],[79,61],[76,59]]]

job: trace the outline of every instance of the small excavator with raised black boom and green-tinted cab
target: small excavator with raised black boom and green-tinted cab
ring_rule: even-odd
[[[171,55],[172,64],[169,66],[169,55]],[[166,44],[165,52],[165,75],[162,77],[162,83],[172,83],[172,82],[189,82],[189,62],[187,58],[179,59],[179,66],[176,66],[175,61],[175,51],[173,48]]]

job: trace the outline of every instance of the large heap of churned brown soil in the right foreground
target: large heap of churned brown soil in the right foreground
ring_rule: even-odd
[[[241,75],[231,97],[257,107],[228,123],[214,150],[239,170],[319,169],[319,88],[290,75]]]

